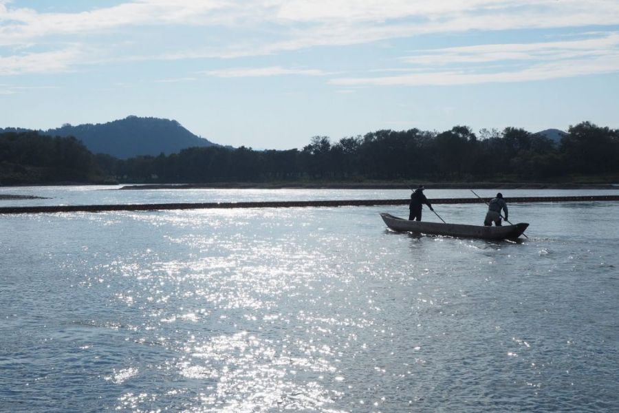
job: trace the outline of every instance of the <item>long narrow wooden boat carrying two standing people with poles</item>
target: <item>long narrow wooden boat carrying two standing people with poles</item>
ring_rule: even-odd
[[[520,223],[502,226],[444,224],[442,222],[409,221],[394,217],[389,213],[380,216],[393,231],[408,231],[451,237],[482,238],[484,240],[515,240],[527,229],[529,224]]]

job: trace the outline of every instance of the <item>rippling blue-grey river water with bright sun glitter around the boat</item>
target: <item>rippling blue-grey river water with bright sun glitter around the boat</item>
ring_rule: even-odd
[[[115,189],[0,206],[409,195]],[[521,242],[389,231],[406,206],[0,215],[0,411],[618,411],[619,202],[509,206]]]

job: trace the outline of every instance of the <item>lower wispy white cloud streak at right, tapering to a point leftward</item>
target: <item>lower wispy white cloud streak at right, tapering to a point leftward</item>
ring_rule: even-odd
[[[392,76],[334,78],[339,86],[468,85],[542,81],[619,72],[619,34],[531,44],[449,47],[402,59],[413,65]]]

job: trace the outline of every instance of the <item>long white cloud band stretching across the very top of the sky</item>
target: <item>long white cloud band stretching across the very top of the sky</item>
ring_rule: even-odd
[[[263,39],[260,47],[254,47],[263,53],[265,49],[356,44],[421,33],[611,25],[618,21],[616,0],[135,0],[74,13],[37,12],[3,1],[0,45],[49,41],[50,36],[101,36],[136,27],[248,30],[245,38],[230,41],[234,46],[254,43],[255,34],[268,26],[275,38]]]

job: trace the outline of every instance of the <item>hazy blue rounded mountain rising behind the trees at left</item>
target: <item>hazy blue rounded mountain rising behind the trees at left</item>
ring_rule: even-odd
[[[67,124],[41,132],[51,136],[75,136],[91,152],[107,153],[121,159],[140,155],[158,156],[162,152],[169,155],[188,147],[217,145],[192,134],[176,120],[138,116],[96,125]]]

